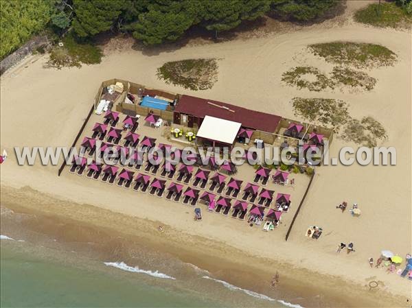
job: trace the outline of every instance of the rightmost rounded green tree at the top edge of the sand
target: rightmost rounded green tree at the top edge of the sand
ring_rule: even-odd
[[[272,0],[271,12],[283,19],[310,21],[325,14],[338,0]]]

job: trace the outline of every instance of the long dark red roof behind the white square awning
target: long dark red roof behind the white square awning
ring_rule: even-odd
[[[225,106],[234,112],[208,104],[208,102],[218,106]],[[275,132],[277,124],[282,119],[282,117],[278,115],[270,115],[268,113],[190,95],[182,95],[174,111],[185,113],[186,115],[193,115],[198,118],[204,118],[206,115],[209,115],[211,117],[235,121],[242,123],[242,127],[244,128],[261,130],[262,132]]]

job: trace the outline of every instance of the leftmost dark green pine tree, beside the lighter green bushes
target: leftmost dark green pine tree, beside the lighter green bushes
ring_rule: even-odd
[[[111,29],[122,10],[126,9],[126,1],[73,0],[73,8],[76,13],[72,23],[74,32],[87,37]]]

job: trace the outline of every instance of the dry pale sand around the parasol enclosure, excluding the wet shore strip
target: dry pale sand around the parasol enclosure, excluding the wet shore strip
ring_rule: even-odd
[[[394,51],[398,62],[393,67],[369,71],[378,80],[374,90],[369,92],[335,90],[314,93],[299,91],[280,82],[284,71],[301,62],[329,70],[330,64],[306,54],[304,49],[308,44],[331,40],[378,43]],[[156,69],[163,62],[210,57],[220,59],[218,82],[210,90],[188,91],[164,84],[156,77]],[[114,52],[101,64],[82,69],[43,69],[45,60],[45,57],[39,58],[27,67],[16,67],[1,76],[1,148],[10,153],[14,146],[70,145],[100,82],[111,78],[230,102],[289,118],[296,118],[290,105],[290,99],[296,96],[343,99],[350,104],[352,117],[374,117],[389,136],[382,145],[396,147],[397,166],[319,167],[288,243],[278,239],[279,244],[274,249],[267,234],[260,230],[250,232],[243,225],[233,226],[233,222],[220,220],[220,217],[193,230],[187,224],[188,215],[170,211],[163,223],[189,234],[227,242],[246,252],[258,251],[262,257],[293,260],[295,265],[339,275],[362,285],[375,276],[376,280],[385,282],[383,289],[410,296],[410,281],[400,279],[396,274],[387,275],[384,270],[372,270],[367,263],[369,257],[377,259],[382,249],[393,250],[402,257],[411,252],[410,33],[356,23],[326,29],[317,25],[299,32],[187,46],[153,56],[130,49]],[[348,143],[334,138],[330,156],[336,156],[339,148],[345,145]],[[86,187],[84,180],[78,177],[57,178],[56,171],[56,167],[39,165],[17,167],[15,158],[10,155],[10,161],[1,166],[1,184],[30,186],[59,198],[159,220],[157,210],[136,211],[133,206],[118,204],[112,189],[104,189],[94,182]],[[343,200],[350,204],[358,202],[363,211],[361,217],[354,218],[336,210],[335,206]],[[134,202],[139,202],[141,210],[150,208],[150,200],[146,198]],[[318,241],[308,241],[304,237],[306,228],[312,224],[323,227],[323,236]],[[225,232],[228,228],[234,228],[236,233]],[[239,234],[244,235],[244,241],[237,240]],[[257,239],[260,245],[256,244]],[[336,255],[336,245],[341,241],[354,241],[356,252]]]

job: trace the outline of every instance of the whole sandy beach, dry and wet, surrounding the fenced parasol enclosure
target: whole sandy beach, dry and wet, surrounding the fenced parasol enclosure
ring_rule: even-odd
[[[1,76],[0,147],[10,153],[7,163],[1,165],[1,206],[35,213],[43,219],[56,217],[96,230],[115,230],[130,240],[139,237],[158,250],[169,249],[171,254],[213,272],[222,280],[255,287],[254,291],[268,296],[280,293],[291,303],[295,298],[288,289],[311,298],[310,306],[409,307],[411,281],[395,273],[387,274],[383,268],[370,268],[367,260],[378,259],[384,249],[401,257],[412,251],[411,32],[354,23],[350,13],[363,4],[362,1],[349,3],[347,19],[341,21],[340,16],[339,23],[325,21],[295,32],[270,33],[261,38],[193,43],[159,54],[131,48],[110,50],[101,64],[81,69],[44,69],[47,56],[27,58]],[[397,54],[398,61],[393,67],[370,69],[369,75],[378,81],[367,92],[348,89],[310,92],[281,82],[282,73],[299,64],[329,71],[332,65],[309,54],[306,47],[334,40],[384,45]],[[157,67],[164,62],[211,57],[219,59],[219,68],[218,82],[210,90],[186,90],[165,84],[156,76]],[[249,228],[244,222],[213,213],[205,213],[199,224],[192,220],[192,209],[182,204],[67,172],[58,177],[57,166],[17,165],[16,157],[11,154],[15,146],[71,145],[98,86],[111,78],[291,119],[296,118],[290,104],[293,97],[342,99],[350,104],[352,117],[370,115],[382,123],[388,139],[379,145],[396,147],[397,165],[317,168],[287,242],[281,229],[286,229],[286,224],[268,234],[262,228]],[[346,145],[354,146],[335,137],[330,156],[336,156]],[[302,196],[303,191],[299,187],[293,193]],[[357,202],[362,209],[361,217],[337,210],[336,205],[343,200],[351,205]],[[165,226],[164,233],[157,231],[159,224]],[[317,241],[304,236],[311,225],[323,228],[323,235]],[[2,226],[1,234],[3,228],[8,230]],[[54,226],[45,226],[44,230],[40,226],[30,228],[44,233],[55,230]],[[336,254],[341,241],[353,241],[356,252]],[[238,258],[233,259],[233,255]],[[256,259],[260,261],[253,264],[258,265],[251,265],[251,260]],[[242,270],[233,270],[239,268]],[[281,290],[268,286],[276,271],[282,276]],[[378,281],[378,289],[369,291],[369,281]],[[323,294],[324,298],[315,302],[317,294]]]

